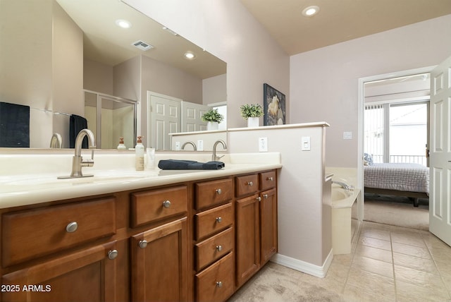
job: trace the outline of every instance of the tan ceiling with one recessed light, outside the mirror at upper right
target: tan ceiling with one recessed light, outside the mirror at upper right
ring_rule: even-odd
[[[451,14],[451,0],[240,0],[288,55]],[[319,6],[304,17],[307,6]]]

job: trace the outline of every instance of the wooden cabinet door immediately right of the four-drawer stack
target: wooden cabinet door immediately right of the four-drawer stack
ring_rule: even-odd
[[[237,286],[259,270],[259,195],[237,200]]]

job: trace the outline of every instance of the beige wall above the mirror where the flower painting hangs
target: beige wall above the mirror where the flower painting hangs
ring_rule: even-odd
[[[228,128],[246,126],[239,107],[263,104],[264,83],[285,93],[290,112],[289,57],[239,0],[123,1],[226,61]]]

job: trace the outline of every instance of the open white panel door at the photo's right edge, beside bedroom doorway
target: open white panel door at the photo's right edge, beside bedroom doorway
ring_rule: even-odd
[[[451,246],[451,57],[431,73],[429,231]]]

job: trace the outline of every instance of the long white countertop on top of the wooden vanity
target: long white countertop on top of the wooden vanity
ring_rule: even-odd
[[[126,157],[124,155],[107,155],[104,158],[100,155],[97,156],[97,159],[94,156],[94,167],[96,160],[99,162],[100,168],[104,168],[108,166],[107,162],[111,162],[111,160],[113,162],[117,161],[118,156],[121,156],[121,159],[125,159],[125,162],[133,162],[130,159],[134,159],[133,155]],[[164,157],[166,159],[183,157],[184,159],[198,160],[199,162],[208,161],[205,157],[196,158],[196,156],[170,154]],[[11,160],[11,157],[9,160]],[[27,158],[27,160],[30,159]],[[39,157],[39,160],[43,160],[42,156]],[[71,161],[71,158],[68,160]],[[49,171],[47,173],[2,174],[0,175],[0,208],[149,188],[183,181],[198,181],[282,167],[279,153],[226,155],[223,162],[226,163],[226,167],[219,170],[161,170],[155,168],[135,171],[135,169],[130,168],[130,164],[128,164],[128,167],[118,169],[104,168],[94,170],[92,168],[83,168],[84,175],[94,174],[94,176],[79,179],[57,179],[58,176],[70,174],[70,169],[64,173]]]

